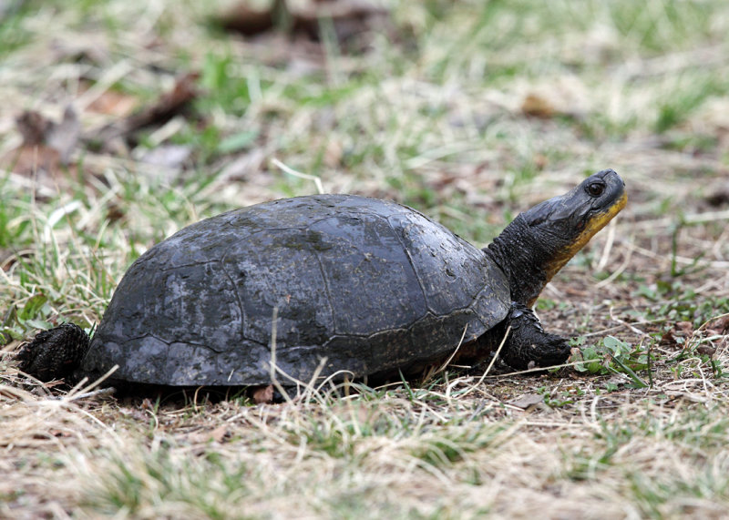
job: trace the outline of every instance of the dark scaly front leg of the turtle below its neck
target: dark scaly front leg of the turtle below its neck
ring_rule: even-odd
[[[570,344],[557,334],[542,329],[534,311],[512,302],[506,325],[511,327],[501,359],[518,370],[549,367],[567,361]]]

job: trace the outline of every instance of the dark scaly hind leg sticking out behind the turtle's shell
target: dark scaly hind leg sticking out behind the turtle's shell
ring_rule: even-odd
[[[71,375],[88,351],[86,332],[74,323],[64,323],[38,332],[32,342],[15,355],[18,368],[47,382]]]

